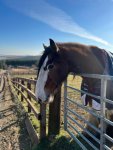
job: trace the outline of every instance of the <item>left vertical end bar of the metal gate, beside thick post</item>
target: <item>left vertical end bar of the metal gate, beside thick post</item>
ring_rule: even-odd
[[[64,130],[67,130],[67,79],[64,82]]]

